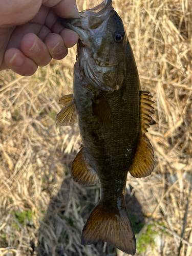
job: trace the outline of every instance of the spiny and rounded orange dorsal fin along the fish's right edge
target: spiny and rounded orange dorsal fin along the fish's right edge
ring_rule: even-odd
[[[130,167],[130,174],[133,177],[141,178],[150,175],[154,169],[154,152],[150,141],[145,136],[147,128],[151,124],[151,116],[153,114],[151,111],[153,106],[151,104],[154,101],[150,100],[152,98],[149,92],[140,92],[140,122],[141,122],[141,132],[138,139],[137,151],[135,153],[134,161]]]

